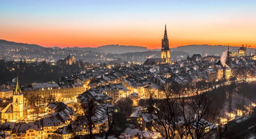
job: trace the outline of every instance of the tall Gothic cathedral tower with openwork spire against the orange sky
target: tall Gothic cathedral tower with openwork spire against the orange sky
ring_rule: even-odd
[[[161,58],[165,59],[166,63],[171,63],[171,51],[169,48],[169,40],[167,37],[166,24],[165,24],[165,34],[163,35],[163,39],[162,39]]]

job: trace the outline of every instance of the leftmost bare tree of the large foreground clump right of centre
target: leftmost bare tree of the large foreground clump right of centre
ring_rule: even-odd
[[[173,99],[172,91],[165,91],[165,97],[161,100],[148,99],[147,118],[154,130],[166,139],[174,139],[177,126],[178,107],[176,99]]]

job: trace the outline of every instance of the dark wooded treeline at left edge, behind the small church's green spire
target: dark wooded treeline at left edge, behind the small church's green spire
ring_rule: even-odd
[[[17,76],[17,65],[19,65],[19,82],[26,84],[27,82],[48,82],[58,81],[61,76],[70,76],[75,72],[84,70],[79,66],[80,63],[74,65],[51,65],[42,62],[26,63],[0,60],[0,84],[12,82]]]

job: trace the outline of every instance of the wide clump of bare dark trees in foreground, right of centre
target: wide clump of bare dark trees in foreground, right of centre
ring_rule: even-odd
[[[150,97],[147,117],[154,130],[166,139],[199,139],[217,133],[220,118],[207,93],[189,98],[174,98],[172,91],[164,99]]]

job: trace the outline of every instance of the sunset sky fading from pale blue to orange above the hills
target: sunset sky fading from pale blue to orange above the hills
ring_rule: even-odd
[[[2,0],[0,39],[42,46],[256,46],[256,0]]]

